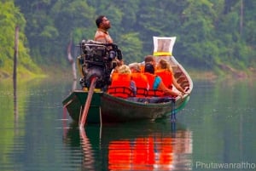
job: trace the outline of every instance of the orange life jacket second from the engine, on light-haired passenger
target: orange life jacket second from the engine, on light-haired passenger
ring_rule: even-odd
[[[148,94],[148,78],[142,73],[131,73],[131,79],[136,83],[137,97],[145,97]]]

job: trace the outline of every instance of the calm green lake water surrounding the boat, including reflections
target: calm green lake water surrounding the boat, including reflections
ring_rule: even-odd
[[[61,101],[69,81],[0,82],[0,170],[256,170],[256,84],[194,81],[170,119],[87,125]]]

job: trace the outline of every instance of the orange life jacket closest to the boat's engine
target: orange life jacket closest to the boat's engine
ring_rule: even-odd
[[[127,98],[132,96],[131,74],[113,74],[111,85],[108,86],[108,94],[113,96]]]

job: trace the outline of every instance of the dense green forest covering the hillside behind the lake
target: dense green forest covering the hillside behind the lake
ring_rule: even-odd
[[[111,21],[125,63],[153,53],[153,37],[177,37],[172,54],[184,67],[224,73],[255,71],[254,0],[0,0],[0,79],[13,71],[19,26],[19,70],[67,68],[83,39],[93,39],[96,17]]]

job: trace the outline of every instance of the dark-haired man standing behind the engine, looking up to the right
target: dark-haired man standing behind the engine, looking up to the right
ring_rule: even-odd
[[[111,27],[110,20],[105,15],[100,15],[96,18],[97,31],[94,40],[100,43],[113,43],[112,38],[108,34],[108,29]]]

